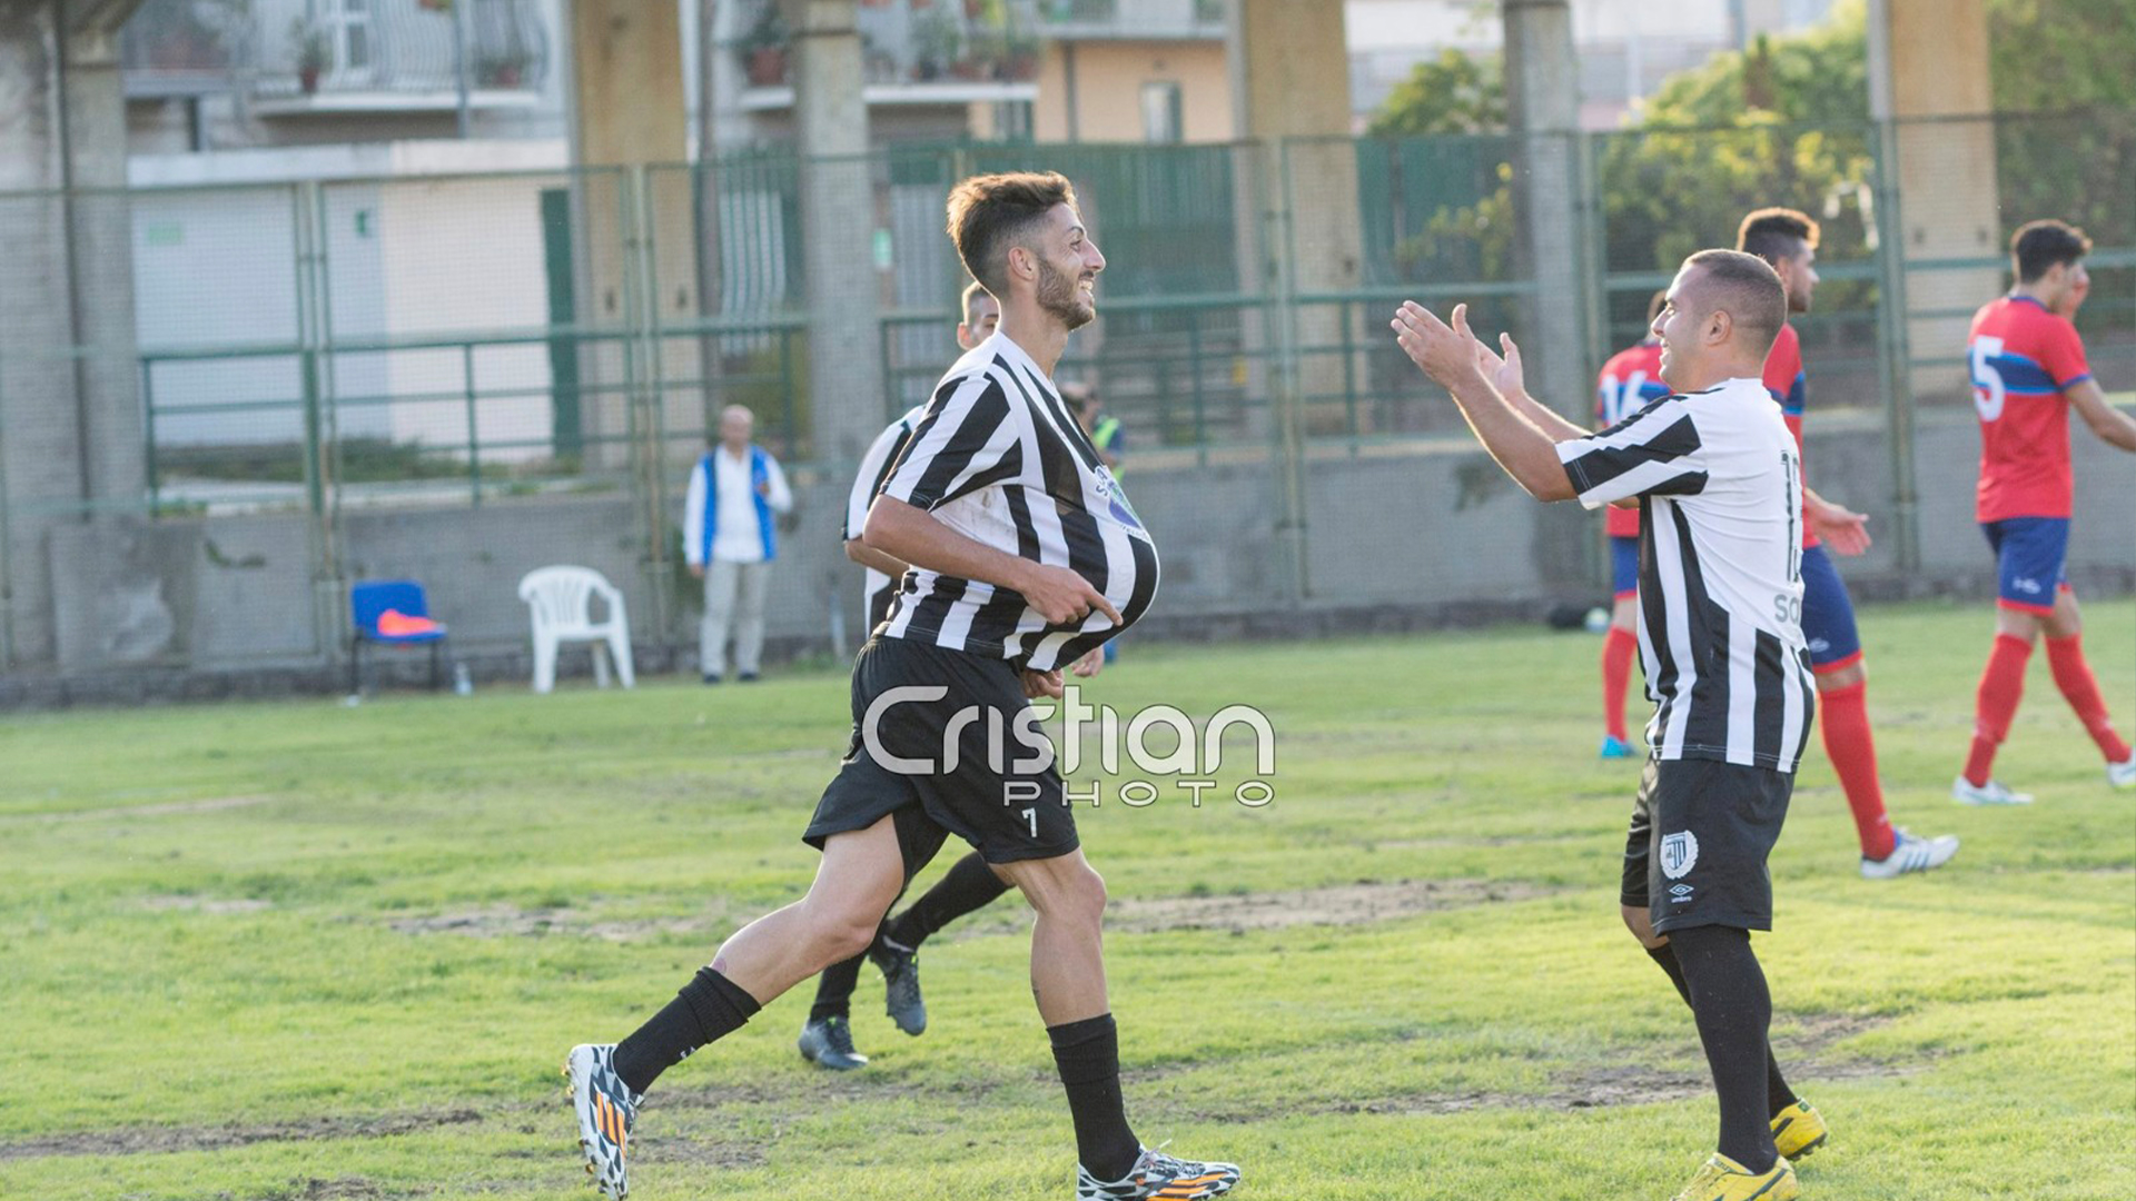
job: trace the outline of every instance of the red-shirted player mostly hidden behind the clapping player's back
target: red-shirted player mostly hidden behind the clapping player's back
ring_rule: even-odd
[[[1809,312],[1818,286],[1818,222],[1796,209],[1758,209],[1737,227],[1737,250],[1773,265],[1779,284],[1788,288],[1790,314]],[[1779,404],[1801,453],[1807,383],[1794,325],[1779,327],[1773,355],[1764,361],[1764,391]],[[1959,853],[1959,838],[1920,838],[1890,825],[1890,814],[1884,812],[1875,735],[1869,733],[1869,671],[1854,630],[1854,600],[1824,551],[1826,543],[1843,556],[1867,551],[1867,524],[1865,515],[1824,500],[1803,483],[1803,641],[1809,643],[1809,667],[1818,675],[1818,731],[1848,810],[1854,812],[1860,872],[1871,880],[1890,880],[1942,868]]]

